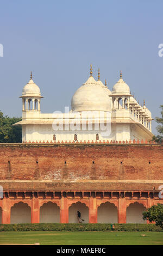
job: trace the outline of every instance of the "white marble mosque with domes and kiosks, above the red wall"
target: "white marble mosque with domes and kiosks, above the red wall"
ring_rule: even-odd
[[[152,139],[152,116],[139,105],[122,79],[112,91],[92,76],[74,93],[68,113],[42,114],[40,88],[30,81],[22,95],[22,142],[129,141]]]

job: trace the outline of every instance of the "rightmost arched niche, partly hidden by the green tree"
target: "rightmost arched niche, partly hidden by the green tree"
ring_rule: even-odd
[[[147,223],[147,221],[143,220],[143,211],[146,211],[143,204],[137,202],[130,204],[126,211],[126,223]]]

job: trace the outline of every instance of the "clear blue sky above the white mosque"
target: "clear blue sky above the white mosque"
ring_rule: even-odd
[[[93,76],[112,87],[122,78],[136,100],[160,116],[163,105],[163,1],[0,1],[0,109],[21,117],[18,96],[30,79],[40,87],[42,113],[64,111]],[[153,121],[153,132],[156,134]]]

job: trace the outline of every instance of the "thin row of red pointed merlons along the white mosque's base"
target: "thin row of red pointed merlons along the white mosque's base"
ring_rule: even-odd
[[[23,144],[158,144],[158,143],[156,143],[156,142],[154,142],[154,141],[150,141],[150,140],[145,140],[145,141],[143,141],[143,139],[141,140],[141,141],[139,141],[139,139],[137,139],[137,141],[134,139],[133,141],[131,141],[131,139],[129,140],[129,141],[101,141],[101,140],[99,140],[99,141],[69,141],[69,142],[67,142],[67,141],[54,141],[54,142],[52,142],[52,141],[47,141],[47,142],[45,142],[45,141],[36,141],[36,142],[34,142],[34,141],[26,141],[26,142],[22,142]]]

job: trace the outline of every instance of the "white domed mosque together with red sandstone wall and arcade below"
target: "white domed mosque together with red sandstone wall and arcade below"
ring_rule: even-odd
[[[65,113],[41,113],[32,74],[20,97],[22,143],[0,144],[0,222],[146,223],[163,203],[163,144],[122,72],[110,90],[91,66]]]

